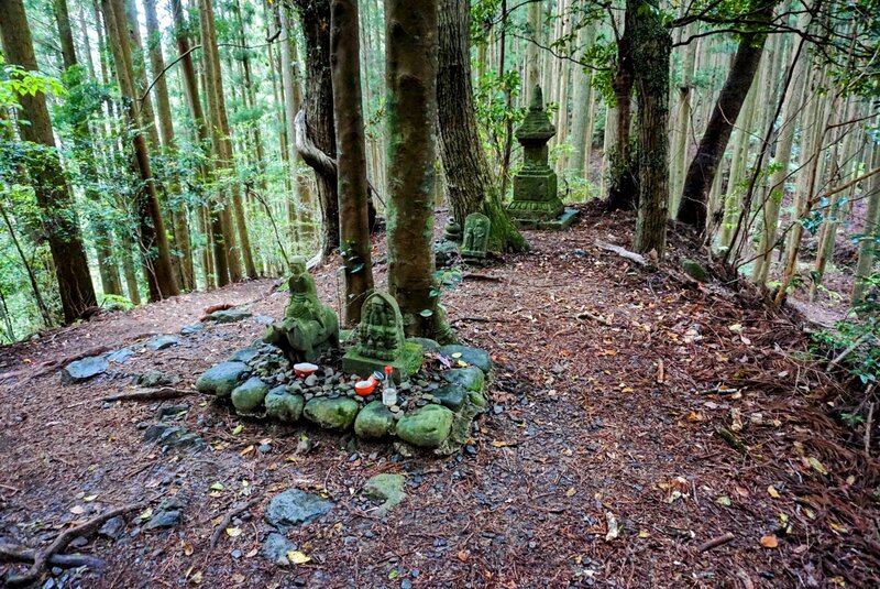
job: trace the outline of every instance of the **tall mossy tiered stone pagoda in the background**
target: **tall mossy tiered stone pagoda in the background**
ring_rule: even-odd
[[[562,229],[571,225],[576,215],[576,210],[565,209],[559,198],[557,174],[548,164],[547,142],[556,133],[556,127],[543,110],[541,87],[535,86],[528,114],[516,130],[524,162],[514,176],[514,199],[507,206],[510,218],[519,227]]]

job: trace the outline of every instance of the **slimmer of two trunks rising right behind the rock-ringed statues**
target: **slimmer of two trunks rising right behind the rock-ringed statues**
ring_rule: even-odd
[[[358,21],[358,0],[332,0],[330,65],[339,150],[339,253],[345,266],[344,323],[350,326],[361,323],[361,306],[373,290]]]

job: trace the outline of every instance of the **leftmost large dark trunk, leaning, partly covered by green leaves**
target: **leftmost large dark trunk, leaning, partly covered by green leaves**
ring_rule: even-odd
[[[0,2],[0,37],[8,63],[26,70],[37,69],[31,29],[22,0]],[[64,320],[72,323],[96,303],[86,249],[61,160],[55,152],[46,97],[42,92],[24,92],[18,96],[18,100],[21,105],[21,118],[28,121],[28,124],[20,126],[21,139],[48,148],[38,159],[34,159],[40,165],[34,163],[29,172],[36,204],[43,212]]]

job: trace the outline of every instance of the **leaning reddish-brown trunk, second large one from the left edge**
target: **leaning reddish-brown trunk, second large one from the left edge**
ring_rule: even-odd
[[[150,153],[144,133],[141,132],[140,112],[136,110],[138,95],[134,89],[127,20],[121,0],[101,0],[105,23],[110,37],[110,48],[116,63],[117,79],[122,92],[123,112],[127,124],[133,130],[134,149],[132,167],[140,175],[142,184],[135,195],[135,214],[139,221],[139,246],[146,275],[151,301],[161,301],[177,294],[174,280],[168,238],[165,222],[158,206],[156,184],[150,167]]]

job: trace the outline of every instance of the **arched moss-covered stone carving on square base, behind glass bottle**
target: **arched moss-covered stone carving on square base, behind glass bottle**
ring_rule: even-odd
[[[374,292],[366,297],[358,336],[358,345],[342,358],[342,369],[348,372],[366,378],[391,366],[394,379],[399,382],[421,366],[421,346],[405,340],[400,307],[387,293]]]

